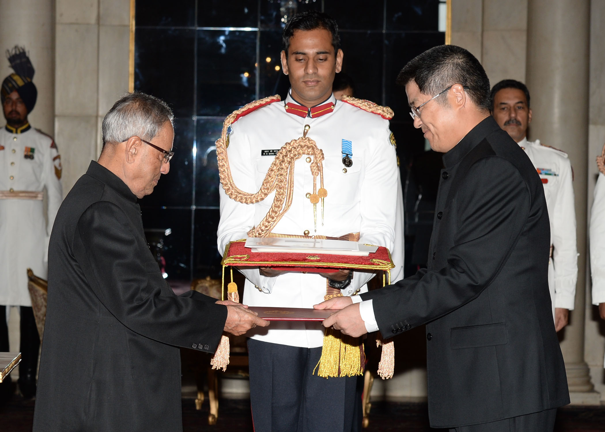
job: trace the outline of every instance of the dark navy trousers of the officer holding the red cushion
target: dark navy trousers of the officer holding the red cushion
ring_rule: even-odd
[[[321,347],[248,339],[255,432],[350,432],[357,377],[321,378]]]

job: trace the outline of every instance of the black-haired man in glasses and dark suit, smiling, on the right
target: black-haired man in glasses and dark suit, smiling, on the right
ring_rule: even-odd
[[[432,427],[552,431],[569,393],[551,315],[540,178],[489,116],[489,80],[471,53],[431,48],[397,82],[414,126],[445,153],[428,269],[316,306],[342,309],[324,326],[388,338],[427,324]]]

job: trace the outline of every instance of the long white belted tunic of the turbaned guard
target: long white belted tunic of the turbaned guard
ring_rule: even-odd
[[[48,238],[62,200],[60,175],[59,151],[50,136],[28,126],[0,130],[0,304],[31,306],[28,268],[46,278]]]

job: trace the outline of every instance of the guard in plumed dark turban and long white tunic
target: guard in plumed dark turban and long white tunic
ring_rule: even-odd
[[[18,49],[11,54],[24,55]],[[0,351],[8,351],[7,309],[21,306],[19,389],[26,399],[36,391],[40,344],[27,289],[27,269],[46,277],[48,238],[62,200],[57,146],[27,120],[37,96],[28,59],[27,64],[29,70],[14,67],[15,73],[4,79],[0,91],[7,121],[0,130]],[[44,190],[47,220],[42,205]]]

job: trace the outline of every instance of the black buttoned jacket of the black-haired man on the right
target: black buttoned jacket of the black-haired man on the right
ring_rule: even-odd
[[[373,299],[382,336],[427,324],[431,427],[569,404],[540,177],[492,117],[443,155],[428,269]]]

